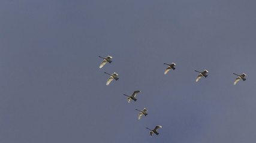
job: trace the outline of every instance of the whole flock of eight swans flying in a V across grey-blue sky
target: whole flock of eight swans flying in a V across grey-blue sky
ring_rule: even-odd
[[[100,56],[99,56],[100,57]],[[103,58],[103,57],[100,57],[100,58]],[[112,57],[111,56],[107,56],[106,58],[103,58],[104,60],[101,62],[101,64],[100,64],[100,69],[106,64],[106,63],[112,63],[112,61],[111,61],[111,59],[112,59]],[[164,64],[166,64],[166,63],[164,63]],[[167,74],[168,73],[168,71],[170,71],[171,69],[173,69],[173,70],[175,70],[175,63],[171,63],[171,64],[166,64],[166,65],[168,65],[168,67],[167,67],[167,69],[165,69],[165,71],[164,71],[164,74]],[[207,77],[208,75],[206,74],[206,73],[208,73],[209,71],[208,70],[204,70],[204,71],[197,71],[197,70],[195,70],[196,72],[198,72],[198,73],[200,73],[198,76],[197,76],[197,78],[195,79],[195,82],[198,82],[198,80],[199,79],[201,79],[201,77]],[[106,72],[104,72],[104,73],[106,73]],[[106,74],[109,74],[109,73],[106,73]],[[243,74],[241,74],[241,75],[239,75],[239,74],[236,74],[236,73],[233,73],[233,74],[235,74],[236,76],[238,76],[237,78],[236,78],[236,80],[234,80],[234,85],[236,85],[236,83],[240,80],[240,79],[242,79],[243,81],[245,81],[246,79],[245,79],[245,76],[247,76],[245,73],[243,73]],[[107,83],[106,83],[106,85],[109,85],[109,83],[110,82],[112,82],[112,80],[113,79],[115,79],[115,80],[118,80],[119,78],[117,77],[118,76],[118,74],[117,73],[113,73],[113,74],[109,74],[110,75],[110,77],[109,77],[109,79],[107,79]],[[140,91],[134,91],[133,93],[132,93],[132,95],[131,96],[129,96],[129,95],[126,95],[126,94],[124,94],[126,97],[127,97],[127,100],[128,100],[128,102],[130,102],[131,100],[133,100],[133,101],[136,101],[137,99],[135,98],[135,96],[138,94],[138,93],[140,93]],[[146,108],[144,108],[143,110],[138,110],[138,109],[135,109],[135,110],[137,110],[137,111],[139,111],[140,113],[138,113],[138,119],[140,119],[140,117],[144,114],[144,116],[147,116],[147,110],[146,110]],[[149,129],[149,128],[146,128],[146,129],[149,129],[150,130],[150,137],[152,137],[152,135],[153,135],[153,133],[155,133],[156,135],[158,135],[159,133],[157,132],[157,130],[158,130],[158,128],[162,128],[162,126],[159,126],[159,125],[156,125],[155,126],[155,128],[154,129]]]

